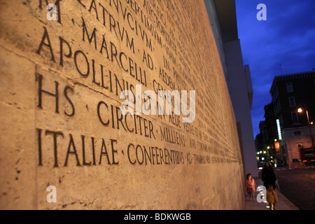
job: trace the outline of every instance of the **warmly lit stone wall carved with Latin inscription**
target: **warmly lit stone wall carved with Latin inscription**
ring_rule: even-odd
[[[203,1],[14,0],[0,10],[1,209],[244,209]],[[120,92],[137,85],[195,90],[195,121],[123,116]]]

